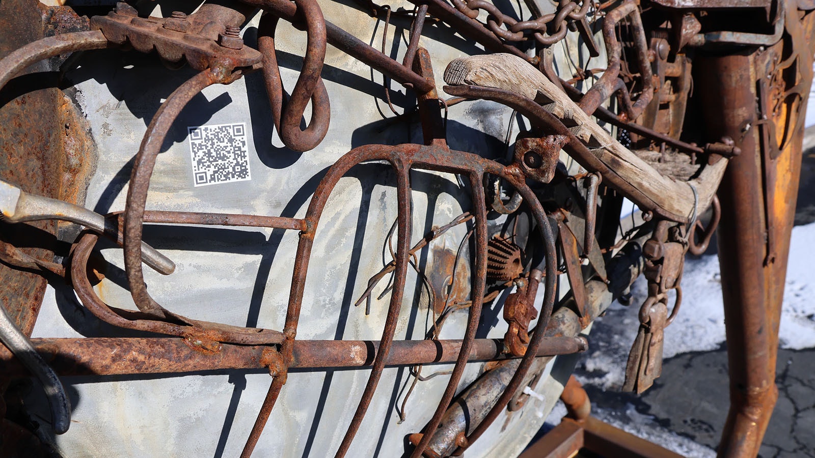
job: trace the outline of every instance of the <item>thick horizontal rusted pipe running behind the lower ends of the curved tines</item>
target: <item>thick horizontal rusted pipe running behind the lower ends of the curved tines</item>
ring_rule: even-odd
[[[34,350],[59,377],[134,374],[184,374],[222,369],[268,368],[275,346],[222,344],[202,352],[178,337],[33,338]],[[394,341],[386,366],[453,363],[462,340]],[[380,354],[379,341],[296,341],[291,368],[365,368]],[[546,337],[538,356],[571,355],[588,349],[583,337]],[[512,359],[499,339],[474,339],[468,362]],[[28,370],[0,346],[0,369],[9,377]]]

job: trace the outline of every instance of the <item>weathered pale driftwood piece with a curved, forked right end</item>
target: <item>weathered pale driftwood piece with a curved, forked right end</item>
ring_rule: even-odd
[[[710,205],[725,173],[726,159],[714,165],[704,165],[698,177],[690,181],[660,174],[598,126],[543,73],[514,55],[474,55],[454,59],[447,65],[444,81],[451,86],[473,85],[509,90],[535,100],[570,128],[598,160],[670,214],[690,218],[694,214],[694,202],[698,202],[696,214],[702,214]]]

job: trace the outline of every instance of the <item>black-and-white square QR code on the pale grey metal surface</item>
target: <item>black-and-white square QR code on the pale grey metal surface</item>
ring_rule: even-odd
[[[252,179],[246,124],[187,127],[195,186]]]

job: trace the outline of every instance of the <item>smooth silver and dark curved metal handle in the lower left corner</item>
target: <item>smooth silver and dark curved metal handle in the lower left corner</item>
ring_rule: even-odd
[[[68,402],[62,382],[59,381],[59,377],[56,377],[54,369],[51,369],[37,350],[34,350],[28,337],[25,337],[25,334],[11,321],[3,305],[0,305],[0,341],[42,383],[42,389],[45,390],[48,403],[51,405],[51,423],[54,425],[54,432],[56,434],[66,433],[68,426],[71,425],[71,403]]]

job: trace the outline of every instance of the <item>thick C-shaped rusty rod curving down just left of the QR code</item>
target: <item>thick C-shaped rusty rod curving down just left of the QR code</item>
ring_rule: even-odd
[[[158,305],[150,297],[147,286],[144,284],[142,271],[142,231],[144,207],[147,205],[148,188],[153,167],[156,165],[156,156],[161,151],[161,144],[173,125],[178,113],[187,106],[187,103],[207,86],[218,82],[217,77],[209,70],[205,70],[190,78],[183,85],[178,86],[172,94],[161,104],[156,115],[150,121],[147,132],[144,134],[141,148],[134,160],[133,172],[130,174],[130,187],[127,189],[127,202],[125,207],[125,272],[130,284],[130,293],[139,310],[159,318],[169,318],[167,310]]]

